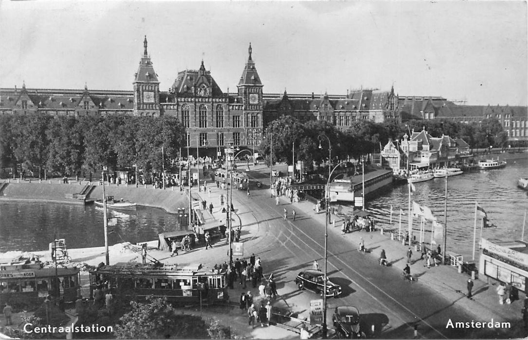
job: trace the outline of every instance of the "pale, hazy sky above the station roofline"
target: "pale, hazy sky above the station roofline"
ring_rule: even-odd
[[[524,1],[0,1],[0,87],[133,90],[143,38],[167,91],[206,69],[265,93],[354,89],[526,105]]]

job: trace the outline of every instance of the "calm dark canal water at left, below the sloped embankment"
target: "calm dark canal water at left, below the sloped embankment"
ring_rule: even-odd
[[[117,218],[117,225],[108,227],[110,245],[151,241],[160,232],[180,229],[178,216],[163,209],[139,208],[127,212],[108,209],[108,218]],[[45,250],[54,235],[64,238],[69,248],[104,246],[102,208],[0,201],[0,252]]]

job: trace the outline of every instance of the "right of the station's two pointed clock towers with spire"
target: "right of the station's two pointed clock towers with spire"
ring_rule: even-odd
[[[262,110],[263,85],[255,68],[255,63],[251,59],[251,43],[249,43],[248,52],[248,62],[237,85],[238,95],[242,98],[244,110]]]

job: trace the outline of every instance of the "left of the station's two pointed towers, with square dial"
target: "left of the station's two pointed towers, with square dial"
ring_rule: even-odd
[[[159,116],[159,81],[147,53],[147,36],[144,51],[134,79],[134,115]]]

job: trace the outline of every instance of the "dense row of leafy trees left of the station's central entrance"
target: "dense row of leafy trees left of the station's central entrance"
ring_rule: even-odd
[[[22,164],[22,170],[63,176],[98,173],[137,164],[160,171],[165,159],[178,157],[185,128],[175,118],[48,115],[0,117],[0,168]]]

